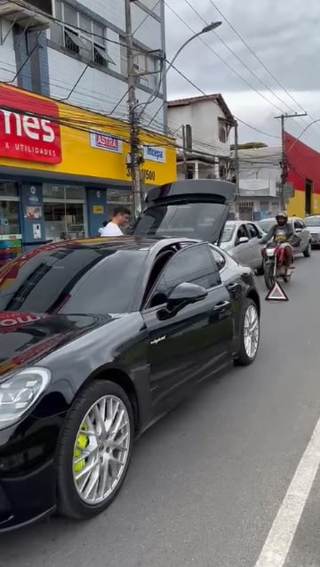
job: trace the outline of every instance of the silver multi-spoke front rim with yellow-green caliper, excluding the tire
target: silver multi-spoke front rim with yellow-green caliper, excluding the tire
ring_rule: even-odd
[[[121,481],[129,457],[131,425],[124,401],[106,395],[95,401],[76,435],[73,478],[89,506],[106,500]]]

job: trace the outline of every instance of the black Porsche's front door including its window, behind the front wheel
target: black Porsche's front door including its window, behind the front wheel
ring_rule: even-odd
[[[170,319],[159,313],[180,283],[195,283],[208,295]],[[148,363],[153,409],[170,409],[193,382],[212,375],[231,356],[233,312],[230,296],[206,243],[184,247],[164,266],[142,317],[148,328]]]

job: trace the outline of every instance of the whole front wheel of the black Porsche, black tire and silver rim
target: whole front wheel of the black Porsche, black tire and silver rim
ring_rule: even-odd
[[[130,465],[133,432],[132,404],[119,385],[96,380],[78,394],[60,433],[56,457],[58,514],[86,520],[111,504]],[[116,449],[116,443],[121,449]],[[118,472],[115,459],[119,459]]]

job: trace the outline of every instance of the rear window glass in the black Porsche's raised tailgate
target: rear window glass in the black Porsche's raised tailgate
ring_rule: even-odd
[[[136,236],[182,236],[212,242],[212,234],[225,210],[225,205],[217,203],[149,207],[132,231]]]

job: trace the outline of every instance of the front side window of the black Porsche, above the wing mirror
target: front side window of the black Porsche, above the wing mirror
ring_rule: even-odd
[[[207,244],[186,247],[169,260],[156,282],[148,306],[164,304],[172,290],[184,282],[206,289],[220,285],[219,269]]]

